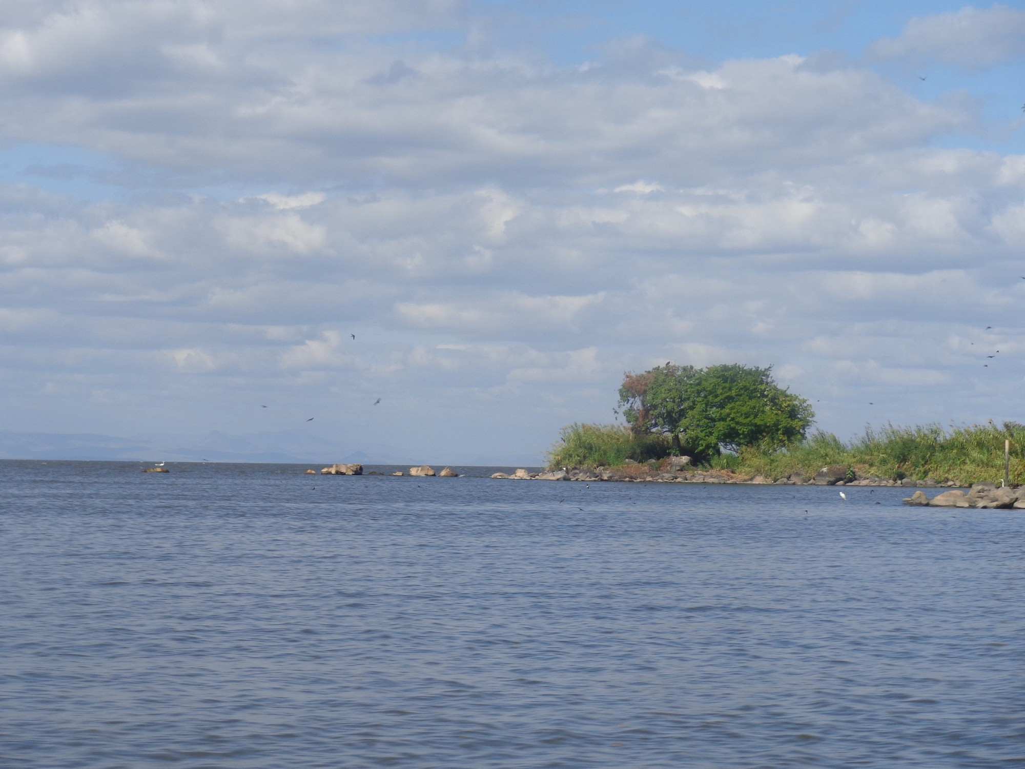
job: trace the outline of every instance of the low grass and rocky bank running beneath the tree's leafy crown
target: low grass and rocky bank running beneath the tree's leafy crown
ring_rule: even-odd
[[[866,428],[863,435],[846,443],[830,433],[817,432],[783,445],[740,446],[693,463],[673,458],[666,436],[639,435],[617,424],[574,423],[560,431],[559,443],[547,452],[547,467],[549,471],[605,471],[651,480],[666,473],[716,476],[739,483],[810,483],[817,476],[821,483],[828,471],[830,485],[968,487],[1001,483],[1006,440],[1011,441],[1011,484],[1021,484],[1025,482],[1025,424],[1013,421],[949,430],[935,423],[888,423]]]

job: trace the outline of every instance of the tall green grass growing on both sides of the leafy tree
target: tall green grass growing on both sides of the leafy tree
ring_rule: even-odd
[[[548,453],[551,467],[615,467],[625,459],[643,462],[668,453],[660,437],[637,437],[617,426],[571,424]],[[954,427],[939,424],[866,429],[843,442],[816,433],[782,449],[747,447],[723,454],[709,464],[742,475],[785,478],[793,473],[813,476],[824,467],[843,464],[859,478],[911,478],[957,481],[999,481],[1003,477],[1003,441],[1011,440],[1011,480],[1025,483],[1025,426],[1004,422]]]

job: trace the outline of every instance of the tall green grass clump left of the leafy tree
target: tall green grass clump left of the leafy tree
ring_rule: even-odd
[[[549,468],[614,468],[626,459],[643,462],[669,453],[663,436],[637,436],[618,424],[569,424],[547,452]]]

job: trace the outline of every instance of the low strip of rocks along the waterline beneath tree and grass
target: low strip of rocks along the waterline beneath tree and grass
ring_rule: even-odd
[[[688,459],[688,457],[679,457]],[[859,478],[847,466],[822,468],[812,477],[793,473],[785,478],[767,478],[766,476],[745,476],[724,471],[684,470],[689,462],[680,462],[680,469],[655,467],[651,464],[625,464],[621,468],[584,468],[564,469],[529,473],[523,468],[512,474],[495,473],[491,477],[512,481],[618,481],[633,483],[748,483],[775,484],[777,486],[911,486],[921,488],[956,488],[955,481],[939,482],[932,478],[914,481],[909,478],[900,481],[890,478],[864,477]]]

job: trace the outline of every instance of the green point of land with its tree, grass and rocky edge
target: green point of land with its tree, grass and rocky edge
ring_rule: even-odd
[[[626,424],[563,428],[547,472],[532,478],[947,488],[1025,481],[1025,424],[887,423],[845,442],[811,430],[811,403],[779,387],[772,366],[667,362],[627,372],[614,410]]]

